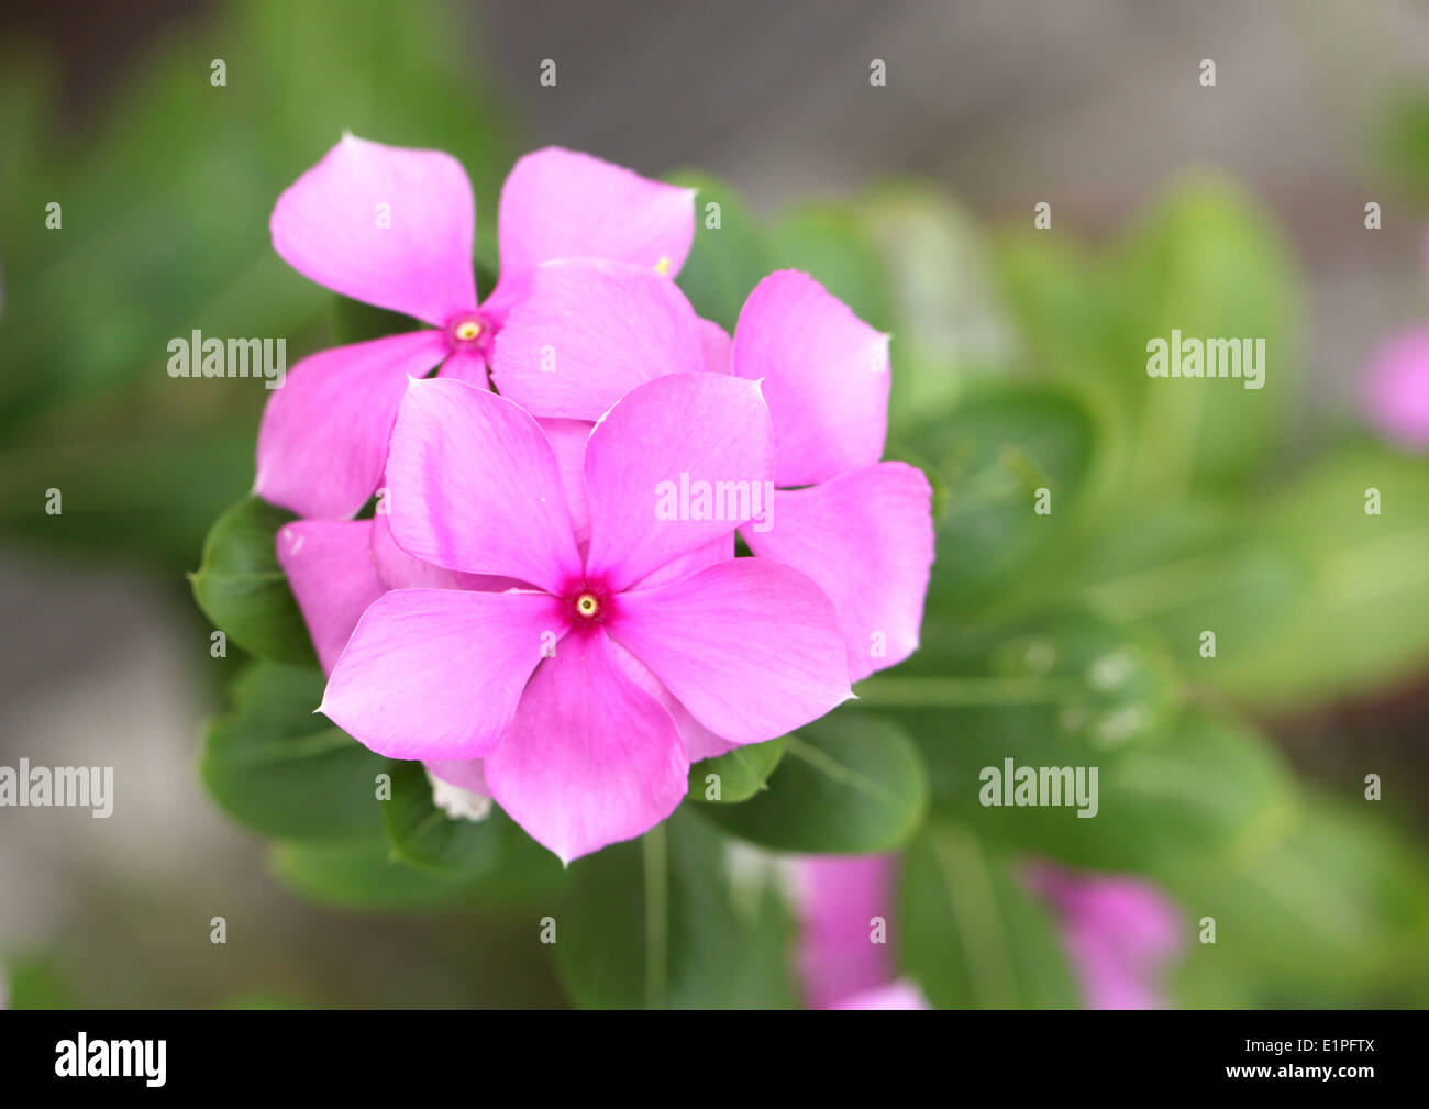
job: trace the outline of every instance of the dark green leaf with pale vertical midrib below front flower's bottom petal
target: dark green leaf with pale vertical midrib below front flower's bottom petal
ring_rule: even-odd
[[[773,1009],[790,1003],[787,922],[772,875],[736,882],[720,836],[689,806],[640,840],[576,860],[570,875],[556,959],[579,1005]]]

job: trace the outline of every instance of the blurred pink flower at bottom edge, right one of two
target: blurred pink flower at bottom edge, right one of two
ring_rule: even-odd
[[[1089,1009],[1163,1009],[1160,978],[1185,943],[1180,915],[1155,886],[1037,863],[1026,885],[1057,916]]]

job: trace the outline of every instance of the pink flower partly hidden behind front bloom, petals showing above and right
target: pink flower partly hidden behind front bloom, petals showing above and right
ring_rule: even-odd
[[[640,382],[712,369],[760,382],[775,427],[772,512],[749,549],[806,573],[833,600],[857,682],[917,647],[933,563],[932,489],[879,462],[889,337],[806,273],[750,293],[730,340],[647,269],[563,260],[537,267],[496,339],[492,376],[539,417],[589,422]]]

